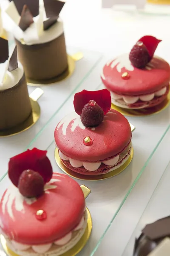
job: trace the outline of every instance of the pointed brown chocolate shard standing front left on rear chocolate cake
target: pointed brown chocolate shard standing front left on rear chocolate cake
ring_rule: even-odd
[[[24,5],[23,11],[21,13],[20,23],[19,23],[18,26],[23,31],[26,31],[26,29],[28,29],[28,27],[32,23],[34,23],[33,16],[31,15],[31,12],[30,12],[29,8],[26,5]]]

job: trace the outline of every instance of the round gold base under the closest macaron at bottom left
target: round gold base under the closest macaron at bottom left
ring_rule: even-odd
[[[82,250],[82,248],[85,246],[88,239],[90,238],[91,230],[92,230],[92,219],[91,219],[91,214],[87,207],[86,207],[86,210],[87,210],[87,214],[88,214],[88,224],[87,224],[84,235],[82,236],[82,238],[79,240],[79,242],[73,248],[71,248],[66,253],[61,254],[60,256],[75,256],[75,255],[77,255]],[[7,247],[6,239],[4,238],[3,235],[0,235],[0,242],[2,244],[3,250],[6,252],[6,254],[8,256],[19,256],[17,253],[14,253],[12,250],[10,250]],[[38,256],[38,253],[37,253],[37,256]]]

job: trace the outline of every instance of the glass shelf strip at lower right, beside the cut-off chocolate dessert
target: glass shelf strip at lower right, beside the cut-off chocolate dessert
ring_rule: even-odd
[[[113,252],[116,256],[132,256],[135,237],[140,235],[145,224],[170,215],[167,204],[169,176],[164,178],[167,179],[167,188],[162,182],[165,173],[170,170],[169,145],[170,125],[139,172],[127,193],[126,201],[122,202],[124,204],[119,213],[113,216],[91,256],[112,256]]]

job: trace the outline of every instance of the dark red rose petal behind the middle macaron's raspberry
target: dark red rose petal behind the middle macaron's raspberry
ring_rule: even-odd
[[[111,109],[111,93],[107,89],[98,91],[82,90],[74,95],[74,109],[80,116],[82,109],[89,100],[94,100],[103,110],[104,114]]]

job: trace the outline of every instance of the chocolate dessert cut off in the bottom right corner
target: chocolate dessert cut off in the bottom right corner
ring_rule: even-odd
[[[133,256],[170,255],[170,216],[147,224],[135,241]]]

